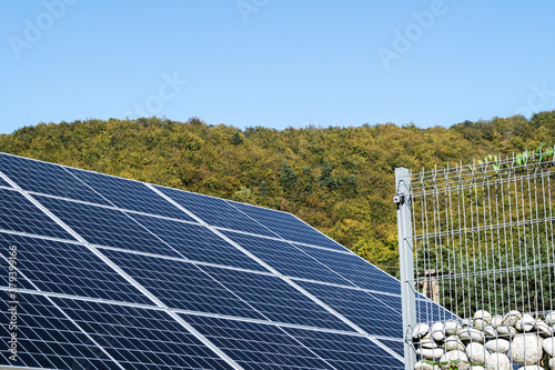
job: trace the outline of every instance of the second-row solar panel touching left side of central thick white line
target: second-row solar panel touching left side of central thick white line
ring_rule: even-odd
[[[155,217],[131,214],[188,259],[251,270],[268,270],[209,228]]]

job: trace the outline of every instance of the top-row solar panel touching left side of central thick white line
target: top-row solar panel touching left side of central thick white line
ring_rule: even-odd
[[[119,208],[194,221],[185,212],[157,194],[142,182],[72,168],[68,168],[68,171]]]

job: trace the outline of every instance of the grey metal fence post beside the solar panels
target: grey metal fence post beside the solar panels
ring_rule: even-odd
[[[394,198],[397,204],[398,260],[401,266],[401,300],[403,309],[403,333],[405,336],[405,370],[414,370],[416,353],[406,338],[416,324],[416,303],[414,291],[413,229],[411,218],[411,174],[405,167],[395,169]]]

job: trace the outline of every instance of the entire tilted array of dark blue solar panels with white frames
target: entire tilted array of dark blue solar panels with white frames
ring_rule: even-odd
[[[6,153],[0,178],[0,366],[404,367],[400,282],[290,213]]]

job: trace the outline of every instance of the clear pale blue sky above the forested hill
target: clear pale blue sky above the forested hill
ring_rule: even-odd
[[[0,2],[0,133],[165,116],[239,128],[555,109],[555,2]]]

